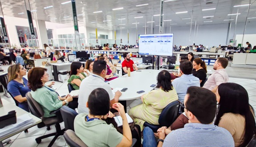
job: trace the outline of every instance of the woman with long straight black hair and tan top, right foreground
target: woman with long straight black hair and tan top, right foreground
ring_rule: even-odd
[[[256,135],[254,112],[247,91],[237,83],[222,83],[216,98],[219,110],[214,124],[230,132],[235,147],[247,146]]]

